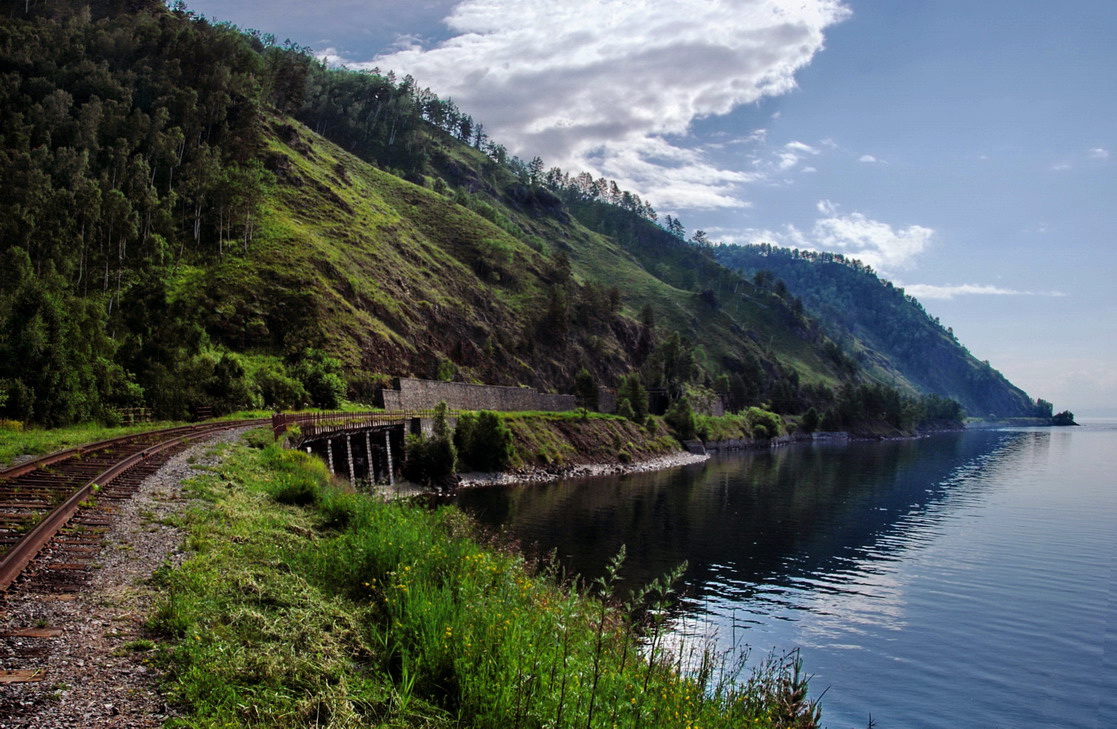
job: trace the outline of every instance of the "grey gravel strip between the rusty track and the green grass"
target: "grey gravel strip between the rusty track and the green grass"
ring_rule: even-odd
[[[102,729],[159,727],[170,709],[157,691],[154,652],[144,621],[156,592],[149,585],[163,564],[182,562],[183,534],[169,521],[188,501],[181,482],[213,466],[211,447],[242,431],[222,433],[175,455],[118,507],[96,564],[73,602],[22,591],[0,603],[0,626],[60,629],[56,639],[0,639],[0,668],[42,668],[38,683],[0,685],[0,729]],[[18,643],[44,655],[13,659]],[[21,651],[22,652],[22,651]]]

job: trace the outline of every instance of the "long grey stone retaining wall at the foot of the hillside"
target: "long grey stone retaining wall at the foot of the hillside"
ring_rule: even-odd
[[[574,395],[551,395],[534,387],[470,385],[465,382],[440,382],[395,377],[392,389],[376,393],[376,404],[386,410],[428,410],[445,402],[451,410],[538,410],[561,412],[574,410]]]

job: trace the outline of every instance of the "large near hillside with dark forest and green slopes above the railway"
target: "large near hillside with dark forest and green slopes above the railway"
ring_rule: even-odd
[[[582,368],[899,407],[799,298],[410,77],[156,0],[0,18],[0,416],[332,407],[391,375],[569,392]]]

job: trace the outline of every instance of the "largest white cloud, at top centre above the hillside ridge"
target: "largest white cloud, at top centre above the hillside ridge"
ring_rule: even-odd
[[[697,118],[792,90],[848,15],[840,0],[464,0],[445,21],[451,38],[347,65],[411,74],[522,156],[614,178],[666,208],[728,207],[741,204],[739,173],[700,152],[656,155]],[[775,167],[813,153],[802,147],[781,148]],[[663,169],[674,180],[660,182]]]

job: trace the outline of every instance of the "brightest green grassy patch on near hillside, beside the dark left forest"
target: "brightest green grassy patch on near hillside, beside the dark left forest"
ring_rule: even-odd
[[[290,144],[279,132],[270,138],[278,183],[251,256],[199,276],[191,290],[203,308],[264,322],[265,342],[284,348],[325,345],[353,368],[426,376],[431,351],[523,326],[506,303],[515,287],[487,286],[465,261],[496,258],[499,244],[508,251],[499,265],[525,270],[531,284],[534,251],[441,195],[287,128]],[[431,220],[447,234],[432,237]]]

